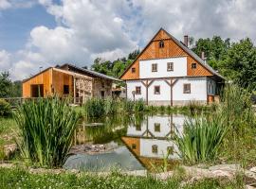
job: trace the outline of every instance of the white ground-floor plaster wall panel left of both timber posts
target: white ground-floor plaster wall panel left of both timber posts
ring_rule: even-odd
[[[133,91],[136,91],[136,87],[140,87],[141,94],[135,94],[135,99],[143,99],[146,100],[146,87],[141,83],[140,80],[127,80],[127,98],[133,100],[134,95]]]

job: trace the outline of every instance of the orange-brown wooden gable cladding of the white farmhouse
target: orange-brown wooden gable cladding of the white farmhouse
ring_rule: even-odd
[[[164,41],[164,47],[159,48],[159,41]],[[165,59],[172,57],[188,57],[187,73],[188,76],[212,76],[209,70],[194,60],[185,52],[171,37],[164,31],[160,30],[155,38],[140,53],[137,60],[130,66],[121,79],[138,79],[139,78],[139,60]],[[192,69],[192,62],[197,63],[196,69]],[[136,73],[132,73],[132,68],[136,68]]]

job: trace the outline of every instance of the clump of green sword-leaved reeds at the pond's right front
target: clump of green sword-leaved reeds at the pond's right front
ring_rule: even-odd
[[[220,115],[186,119],[183,133],[174,136],[181,158],[191,164],[214,160],[228,132],[224,123]]]

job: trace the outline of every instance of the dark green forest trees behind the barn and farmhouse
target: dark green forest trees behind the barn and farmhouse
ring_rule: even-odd
[[[222,76],[244,88],[256,91],[256,47],[249,38],[233,43],[229,38],[222,39],[220,36],[213,36],[211,39],[200,38],[195,42],[191,38],[190,46],[199,57],[204,52],[207,62]],[[139,52],[137,49],[127,57],[113,61],[97,58],[89,69],[111,77],[120,77]],[[0,97],[21,96],[21,88],[21,81],[11,81],[9,73],[0,73]]]

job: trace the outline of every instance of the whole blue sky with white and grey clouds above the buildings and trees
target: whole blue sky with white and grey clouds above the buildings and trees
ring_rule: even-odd
[[[256,40],[255,0],[0,0],[0,72],[13,80],[65,62],[90,66],[143,48],[164,27]]]

